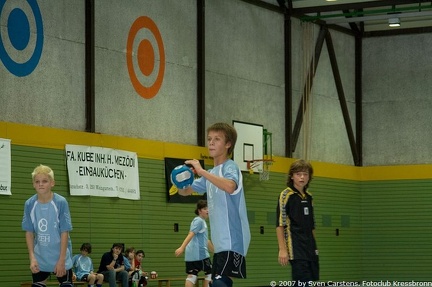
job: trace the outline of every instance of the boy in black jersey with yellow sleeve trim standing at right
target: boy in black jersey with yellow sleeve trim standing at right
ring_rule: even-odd
[[[276,209],[278,261],[282,266],[291,264],[295,286],[319,280],[314,209],[308,192],[312,175],[310,163],[295,161],[288,171],[288,187],[280,193]]]

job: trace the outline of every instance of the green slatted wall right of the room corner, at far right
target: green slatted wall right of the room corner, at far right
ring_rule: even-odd
[[[432,180],[362,183],[363,277],[431,281]]]

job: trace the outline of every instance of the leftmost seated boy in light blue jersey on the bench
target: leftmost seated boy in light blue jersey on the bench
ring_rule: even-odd
[[[93,272],[93,261],[89,257],[91,244],[83,243],[80,248],[81,254],[72,258],[74,273],[78,281],[88,282],[88,287],[102,287],[103,275]]]

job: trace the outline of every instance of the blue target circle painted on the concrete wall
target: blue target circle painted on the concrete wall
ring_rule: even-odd
[[[0,15],[6,0],[0,0]],[[14,61],[7,53],[1,37],[0,31],[0,60],[5,67],[17,77],[25,77],[32,73],[39,63],[43,48],[43,25],[42,15],[37,5],[36,0],[27,0],[27,3],[32,9],[36,22],[36,45],[31,57],[24,63]],[[8,34],[12,46],[21,51],[27,47],[30,41],[30,24],[25,12],[19,8],[14,8],[8,16]]]

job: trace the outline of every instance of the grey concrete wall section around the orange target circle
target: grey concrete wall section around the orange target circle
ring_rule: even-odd
[[[196,144],[196,3],[195,1],[96,1],[96,129],[170,142]],[[160,72],[160,45],[140,17],[152,19],[160,32],[165,72],[151,99],[137,93],[126,63],[132,57],[139,85],[152,87]],[[133,54],[127,53],[134,38]],[[138,67],[138,47],[151,42],[155,67],[146,76]],[[145,61],[145,60],[144,60]]]

